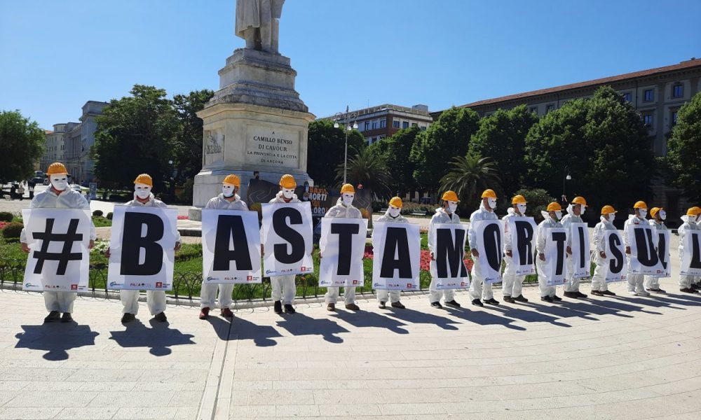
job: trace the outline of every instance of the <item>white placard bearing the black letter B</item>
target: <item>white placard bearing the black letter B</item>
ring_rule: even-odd
[[[172,290],[177,210],[115,206],[107,288]]]

